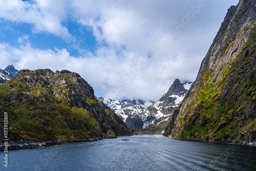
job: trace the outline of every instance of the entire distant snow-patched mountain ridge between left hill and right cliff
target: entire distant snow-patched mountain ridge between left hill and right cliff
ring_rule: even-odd
[[[191,83],[190,81],[180,82],[179,79],[176,79],[168,92],[156,103],[134,99],[121,101],[104,99],[103,97],[98,99],[110,106],[126,123],[127,127],[135,131],[156,131],[157,127],[161,126],[159,129],[162,132],[164,130],[162,125],[167,123],[169,116],[178,108]]]

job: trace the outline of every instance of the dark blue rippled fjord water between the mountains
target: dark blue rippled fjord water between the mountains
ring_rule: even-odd
[[[18,149],[8,157],[8,169],[2,163],[0,170],[256,170],[256,147],[162,135]]]

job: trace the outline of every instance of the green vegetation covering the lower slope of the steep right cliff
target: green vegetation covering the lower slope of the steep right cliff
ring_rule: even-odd
[[[213,70],[203,73],[196,99],[187,106],[193,110],[193,114],[178,118],[178,122],[184,122],[178,137],[237,141],[256,131],[255,114],[249,113],[247,109],[256,99],[255,35],[245,43],[237,57],[225,66],[221,80],[213,78]],[[255,66],[254,74],[249,70],[251,65]]]

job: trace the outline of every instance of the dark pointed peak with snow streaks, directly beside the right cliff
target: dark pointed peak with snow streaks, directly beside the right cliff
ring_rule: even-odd
[[[179,79],[176,79],[167,93],[156,103],[148,106],[144,112],[138,113],[136,116],[127,117],[126,125],[135,131],[151,131],[160,134],[169,121],[170,115],[174,113],[185,97],[188,90],[184,87],[188,89],[190,85],[191,82],[181,83]]]

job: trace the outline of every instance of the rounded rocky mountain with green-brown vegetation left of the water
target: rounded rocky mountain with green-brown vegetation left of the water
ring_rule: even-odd
[[[8,113],[11,146],[30,142],[100,139],[132,135],[125,123],[94,96],[79,74],[22,70],[0,85],[0,110]],[[0,143],[4,138],[4,115]]]

